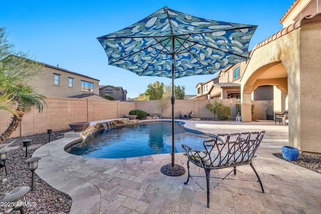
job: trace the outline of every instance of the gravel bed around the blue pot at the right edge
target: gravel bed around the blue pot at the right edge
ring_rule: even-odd
[[[282,157],[282,153],[274,153],[278,158],[281,158],[285,161],[293,163],[295,165],[302,166],[304,168],[310,169],[312,171],[321,173],[321,156],[310,155],[310,154],[299,154],[295,161],[286,160]]]

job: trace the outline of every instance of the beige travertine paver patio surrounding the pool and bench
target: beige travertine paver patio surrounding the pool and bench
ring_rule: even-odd
[[[71,155],[64,146],[76,138],[62,138],[37,149],[36,173],[54,188],[72,197],[70,213],[321,213],[321,174],[275,157],[288,144],[288,126],[274,122],[216,122],[188,120],[185,127],[209,133],[266,130],[254,166],[258,182],[224,180],[211,192],[206,208],[206,192],[187,173],[164,175],[160,168],[171,162],[170,154],[123,159],[86,158]],[[176,162],[186,167],[187,157],[176,154]],[[237,167],[255,178],[249,165]],[[205,175],[191,165],[193,174]],[[228,169],[212,170],[224,176]],[[225,174],[224,174],[225,173]],[[233,174],[233,173],[232,173]],[[205,178],[199,178],[205,184]],[[211,179],[212,185],[215,179]]]

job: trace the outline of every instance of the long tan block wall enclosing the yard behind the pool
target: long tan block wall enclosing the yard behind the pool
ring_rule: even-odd
[[[187,114],[193,111],[193,117],[212,119],[213,114],[205,108],[205,104],[214,100],[176,100],[174,117],[179,118],[179,111]],[[236,116],[236,99],[220,99],[218,102],[231,108],[231,120]],[[36,110],[23,117],[21,125],[11,137],[27,136],[37,133],[46,133],[47,129],[54,131],[69,129],[69,123],[81,121],[97,121],[104,119],[122,118],[132,109],[141,109],[151,116],[161,115],[157,110],[157,101],[109,101],[94,99],[77,99],[64,97],[47,97],[47,107],[42,113]],[[254,101],[255,109],[252,119],[265,119],[265,108],[273,107],[273,101]],[[0,111],[0,131],[3,132],[11,122],[11,114]],[[163,118],[172,118],[172,104],[163,112]]]

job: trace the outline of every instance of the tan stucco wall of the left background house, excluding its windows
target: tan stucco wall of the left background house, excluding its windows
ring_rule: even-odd
[[[54,73],[60,74],[60,85],[54,85]],[[69,87],[69,77],[73,78],[73,87]],[[93,92],[81,91],[81,80],[94,84]],[[32,81],[33,88],[40,94],[45,96],[70,97],[79,94],[95,93],[99,94],[99,81],[67,73],[64,71],[44,67],[44,74],[37,76]]]

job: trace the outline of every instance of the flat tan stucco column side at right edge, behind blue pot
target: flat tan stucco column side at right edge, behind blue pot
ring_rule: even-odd
[[[302,26],[300,41],[300,138],[293,141],[300,143],[301,151],[321,153],[321,23]]]

